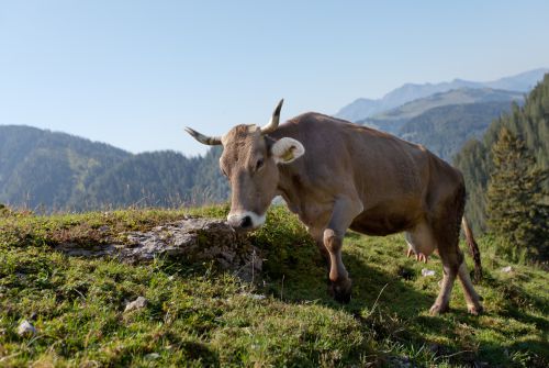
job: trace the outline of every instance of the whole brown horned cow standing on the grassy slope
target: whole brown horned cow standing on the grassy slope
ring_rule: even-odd
[[[368,235],[406,232],[418,258],[438,249],[442,260],[441,290],[430,312],[448,310],[458,277],[469,312],[480,313],[459,249],[461,174],[421,145],[332,116],[305,113],[279,126],[281,107],[282,101],[261,129],[237,125],[223,137],[187,129],[201,143],[223,145],[220,166],[232,188],[228,223],[257,228],[281,194],[328,257],[330,291],[340,302],[350,300],[351,290],[341,260],[347,228]]]

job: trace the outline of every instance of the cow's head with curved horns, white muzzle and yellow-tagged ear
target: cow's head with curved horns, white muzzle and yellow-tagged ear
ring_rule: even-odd
[[[261,226],[269,204],[277,192],[278,165],[290,164],[305,153],[293,138],[274,140],[268,134],[277,130],[281,100],[269,124],[236,125],[222,137],[211,137],[187,127],[197,141],[206,145],[223,145],[220,168],[227,177],[231,189],[231,212],[227,221],[235,230],[248,231]]]

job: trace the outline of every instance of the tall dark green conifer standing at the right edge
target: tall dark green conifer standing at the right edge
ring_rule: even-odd
[[[507,239],[507,252],[548,259],[548,170],[536,167],[525,142],[503,127],[492,146],[493,171],[488,185],[488,225]]]

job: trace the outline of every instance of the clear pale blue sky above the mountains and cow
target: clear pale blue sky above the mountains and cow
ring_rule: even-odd
[[[0,0],[0,124],[132,153],[549,67],[549,1]]]

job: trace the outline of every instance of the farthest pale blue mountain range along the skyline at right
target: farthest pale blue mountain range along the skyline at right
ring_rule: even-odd
[[[501,78],[494,81],[479,82],[463,79],[440,83],[406,83],[395,90],[386,93],[381,99],[358,99],[352,103],[341,108],[335,116],[356,122],[372,116],[382,111],[396,108],[406,102],[417,100],[430,94],[446,92],[462,88],[491,88],[505,89],[518,92],[528,92],[537,81],[549,73],[549,68],[539,68],[525,71],[515,76]]]

